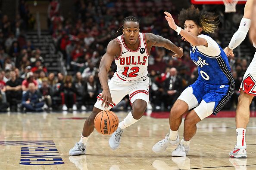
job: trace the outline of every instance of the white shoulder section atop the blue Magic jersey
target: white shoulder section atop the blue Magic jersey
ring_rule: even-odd
[[[205,55],[208,55],[210,57],[217,57],[220,55],[221,50],[219,48],[218,43],[216,43],[216,41],[214,39],[212,39],[211,37],[204,35],[204,34],[200,34],[198,37],[206,39],[207,44],[208,44],[208,47],[197,46],[197,49],[199,52],[201,52]]]

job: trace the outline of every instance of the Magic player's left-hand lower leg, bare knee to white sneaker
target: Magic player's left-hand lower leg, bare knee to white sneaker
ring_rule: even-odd
[[[188,112],[188,105],[183,100],[177,100],[170,111],[169,123],[170,133],[165,136],[165,139],[156,143],[152,151],[159,153],[165,151],[170,145],[176,145],[179,143],[178,129],[181,125],[182,116]]]

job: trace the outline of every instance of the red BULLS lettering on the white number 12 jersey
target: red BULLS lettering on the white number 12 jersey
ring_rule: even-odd
[[[120,58],[120,65],[145,65],[147,61],[147,56],[137,57],[129,56]]]

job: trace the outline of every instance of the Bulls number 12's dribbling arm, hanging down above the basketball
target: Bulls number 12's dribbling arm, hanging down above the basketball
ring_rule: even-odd
[[[109,106],[109,103],[113,103],[108,85],[109,68],[114,57],[118,57],[120,53],[120,45],[115,39],[113,39],[109,42],[106,53],[103,55],[100,61],[99,79],[100,84],[103,88],[103,92],[101,93],[101,96],[98,100],[103,99],[101,106],[103,106],[103,104],[105,103],[105,108]]]

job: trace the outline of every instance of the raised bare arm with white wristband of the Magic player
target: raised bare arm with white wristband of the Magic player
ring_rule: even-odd
[[[192,33],[178,27],[169,12],[164,12],[164,14],[166,15],[165,19],[168,21],[169,27],[178,32],[178,34],[181,34],[181,36],[183,36],[182,39],[188,41],[193,46],[208,46],[206,39],[194,36]]]

